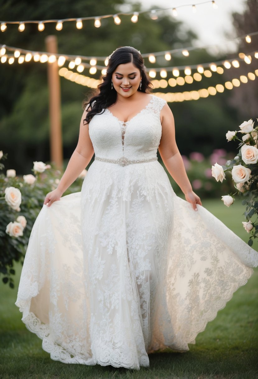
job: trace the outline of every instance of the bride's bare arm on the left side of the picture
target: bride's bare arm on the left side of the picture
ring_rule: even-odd
[[[58,187],[47,194],[44,200],[44,204],[50,207],[54,201],[60,200],[62,194],[67,188],[78,178],[82,170],[87,167],[94,154],[92,141],[89,136],[89,124],[84,124],[83,120],[86,117],[87,112],[84,111],[80,122],[80,131],[78,144],[71,155],[67,168],[62,176]]]

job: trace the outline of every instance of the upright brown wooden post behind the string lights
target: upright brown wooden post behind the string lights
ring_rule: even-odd
[[[56,36],[45,39],[47,52],[56,54]],[[59,169],[63,168],[62,130],[61,130],[61,99],[58,62],[48,63],[49,114],[50,114],[50,161]]]

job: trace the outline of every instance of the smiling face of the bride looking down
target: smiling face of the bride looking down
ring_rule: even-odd
[[[132,62],[120,64],[112,74],[113,91],[123,97],[130,97],[139,88],[140,80],[140,70]]]

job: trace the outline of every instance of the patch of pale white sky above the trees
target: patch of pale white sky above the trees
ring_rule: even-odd
[[[149,9],[151,6],[158,8],[177,8],[179,5],[182,8],[177,9],[178,16],[176,19],[183,21],[187,24],[188,28],[194,30],[199,37],[196,41],[197,46],[219,44],[227,40],[225,33],[230,33],[233,37],[231,13],[243,13],[245,9],[245,0],[215,0],[218,5],[217,9],[213,9],[211,1],[207,4],[198,3],[205,0],[137,0],[141,3],[143,10]],[[193,13],[192,5],[196,5],[196,13]],[[168,11],[169,12],[169,11]],[[218,49],[218,50],[217,50]],[[211,51],[234,51],[235,44],[227,42],[226,45],[214,47]]]

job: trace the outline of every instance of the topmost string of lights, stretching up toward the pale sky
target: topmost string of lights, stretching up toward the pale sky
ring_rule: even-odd
[[[207,3],[210,3],[211,5],[213,5],[213,8],[216,9],[218,8],[218,5],[215,3],[214,0],[209,0],[209,1],[205,1],[205,2],[200,2],[200,3],[194,3],[194,4],[184,4],[184,5],[179,5],[177,7],[169,7],[169,8],[157,8],[157,9],[149,9],[147,11],[137,11],[137,12],[134,12],[134,11],[131,11],[131,12],[118,12],[118,13],[115,13],[115,14],[105,14],[105,15],[101,15],[101,16],[89,16],[89,17],[76,17],[76,18],[66,18],[66,19],[51,19],[51,20],[25,20],[25,21],[0,21],[0,23],[2,25],[6,25],[6,24],[28,24],[28,23],[58,23],[58,22],[70,22],[70,21],[78,21],[78,20],[81,20],[81,21],[86,21],[86,20],[96,20],[96,19],[105,19],[105,18],[109,18],[109,17],[115,17],[115,16],[135,16],[137,14],[137,16],[139,14],[143,14],[143,13],[156,13],[156,12],[159,12],[159,11],[167,11],[167,10],[170,10],[172,9],[173,10],[173,15],[176,16],[176,9],[178,8],[183,8],[183,7],[186,7],[186,6],[191,6],[193,8],[193,10],[196,10],[196,6],[198,5],[203,5],[203,4],[207,4]],[[134,21],[135,22],[135,21]],[[2,30],[2,29],[1,29]],[[6,30],[6,28],[5,28]],[[5,30],[2,30],[2,31],[5,31]],[[42,29],[44,30],[44,29]]]

